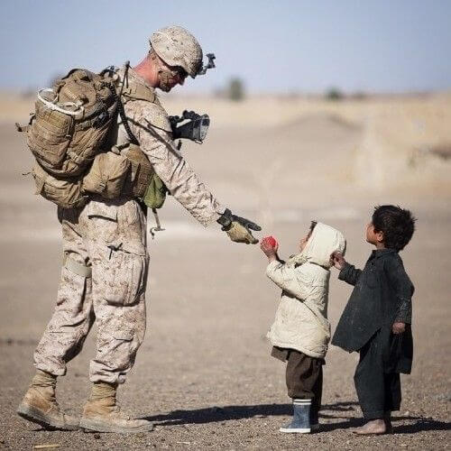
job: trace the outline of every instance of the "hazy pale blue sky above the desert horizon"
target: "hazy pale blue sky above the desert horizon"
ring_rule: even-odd
[[[189,78],[189,92],[233,76],[253,92],[451,87],[451,0],[1,0],[0,88],[136,64],[169,24],[216,53],[217,69]]]

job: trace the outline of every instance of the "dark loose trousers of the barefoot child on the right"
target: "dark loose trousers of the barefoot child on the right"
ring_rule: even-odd
[[[382,419],[391,410],[400,410],[400,374],[385,373],[382,343],[376,334],[360,350],[354,383],[364,419]]]

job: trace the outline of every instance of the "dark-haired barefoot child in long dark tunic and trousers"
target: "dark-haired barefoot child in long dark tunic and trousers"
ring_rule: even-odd
[[[392,205],[375,207],[366,241],[376,246],[364,270],[333,255],[338,279],[355,288],[336,327],[332,344],[359,351],[354,383],[364,419],[356,434],[391,432],[391,410],[400,410],[400,373],[412,364],[413,285],[398,254],[410,242],[415,218]]]

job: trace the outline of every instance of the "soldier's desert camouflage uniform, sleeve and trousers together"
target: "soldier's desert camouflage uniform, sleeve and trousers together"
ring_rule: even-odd
[[[131,85],[143,84],[153,91],[131,69],[128,78]],[[124,108],[133,134],[171,195],[202,225],[216,221],[225,208],[174,146],[168,115],[158,98],[129,101]],[[119,119],[112,142],[128,141]],[[35,366],[54,375],[66,373],[66,364],[81,350],[96,321],[97,355],[90,364],[90,381],[124,382],[145,331],[149,255],[143,210],[130,197],[92,198],[85,207],[60,209],[59,218],[67,261],[55,312],[34,353]],[[92,278],[84,273],[86,268],[92,270]]]

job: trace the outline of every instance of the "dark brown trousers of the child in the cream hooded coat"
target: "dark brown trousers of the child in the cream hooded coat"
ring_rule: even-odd
[[[294,349],[284,351],[286,352],[287,361],[286,382],[288,395],[292,399],[311,400],[311,423],[317,424],[323,394],[324,359],[310,357]],[[280,358],[274,352],[272,355]]]

